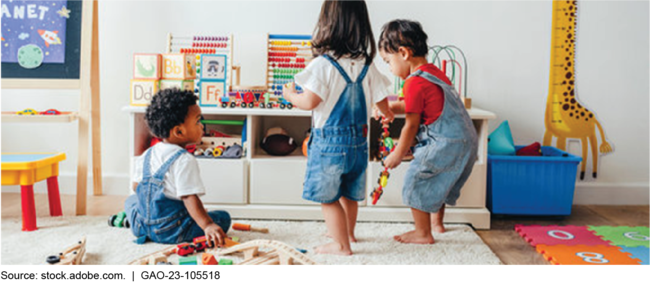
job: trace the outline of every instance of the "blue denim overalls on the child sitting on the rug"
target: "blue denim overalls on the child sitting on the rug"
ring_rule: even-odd
[[[179,150],[156,174],[151,175],[151,150],[147,151],[142,182],[138,184],[136,195],[127,199],[124,205],[132,223],[131,230],[137,238],[146,237],[159,244],[178,244],[192,242],[194,238],[205,235],[190,216],[183,201],[169,199],[164,194],[165,175],[184,153],[184,149]],[[208,215],[224,232],[228,232],[231,220],[227,212],[215,211]]]

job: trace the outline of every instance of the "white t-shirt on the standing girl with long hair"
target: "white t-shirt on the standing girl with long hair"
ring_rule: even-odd
[[[344,57],[337,61],[353,82],[357,81],[366,63],[364,58],[353,60]],[[341,98],[347,82],[336,67],[322,56],[311,61],[307,69],[295,76],[295,80],[297,85],[315,93],[323,100],[323,103],[314,109],[313,114],[314,127],[323,128]],[[375,64],[371,64],[363,81],[368,117],[372,115],[373,104],[388,97],[391,85],[390,80],[379,72]]]

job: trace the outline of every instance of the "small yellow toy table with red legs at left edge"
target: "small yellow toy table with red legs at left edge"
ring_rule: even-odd
[[[64,153],[0,153],[0,186],[21,186],[23,231],[36,231],[34,184],[47,180],[51,216],[63,216],[59,162]]]

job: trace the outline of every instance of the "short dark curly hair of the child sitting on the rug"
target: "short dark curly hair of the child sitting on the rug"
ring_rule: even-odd
[[[197,99],[193,92],[178,88],[161,90],[154,95],[145,114],[151,134],[161,139],[169,138],[174,127],[185,123],[190,106],[196,105]]]

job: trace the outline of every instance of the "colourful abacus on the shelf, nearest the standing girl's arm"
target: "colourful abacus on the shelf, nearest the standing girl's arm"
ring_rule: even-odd
[[[311,59],[310,35],[269,34],[266,85],[273,96],[282,96],[282,87],[294,82],[296,74],[302,72]],[[298,92],[302,89],[296,86]]]

